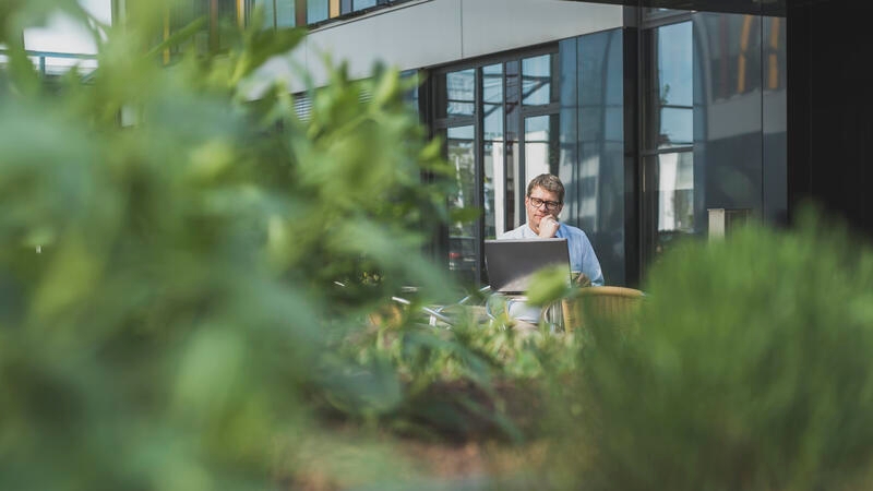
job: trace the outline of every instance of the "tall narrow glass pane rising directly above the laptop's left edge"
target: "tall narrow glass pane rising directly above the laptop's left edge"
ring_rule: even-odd
[[[485,238],[506,231],[506,176],[503,158],[503,65],[482,68]]]

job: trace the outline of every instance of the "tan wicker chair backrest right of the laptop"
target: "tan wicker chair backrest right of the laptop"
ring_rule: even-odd
[[[581,288],[575,298],[562,302],[564,331],[571,332],[595,321],[629,324],[644,296],[645,294],[634,288]]]

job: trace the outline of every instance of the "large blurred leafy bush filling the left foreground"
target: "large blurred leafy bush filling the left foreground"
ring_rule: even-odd
[[[91,82],[46,83],[20,28],[59,4],[86,19],[74,1],[0,10],[0,488],[271,486],[296,451],[277,441],[318,431],[312,393],[359,370],[313,370],[332,340],[403,285],[451,287],[420,253],[445,218],[420,181],[442,172],[439,142],[393,70],[334,69],[307,121],[280,86],[248,100],[298,31],[202,56],[194,24],[162,65],[145,48],[171,2],[96,29]],[[374,400],[397,376],[356,382]]]

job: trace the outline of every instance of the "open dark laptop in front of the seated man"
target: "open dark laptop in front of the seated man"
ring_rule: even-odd
[[[566,239],[505,239],[485,241],[485,267],[492,291],[524,295],[539,270],[559,265],[570,279]]]

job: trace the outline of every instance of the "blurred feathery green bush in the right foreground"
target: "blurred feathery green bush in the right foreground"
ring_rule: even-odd
[[[792,232],[754,227],[670,254],[638,332],[589,333],[579,395],[561,406],[575,414],[555,421],[575,417],[581,445],[559,454],[563,476],[584,489],[863,487],[871,286],[869,246],[812,213]]]

